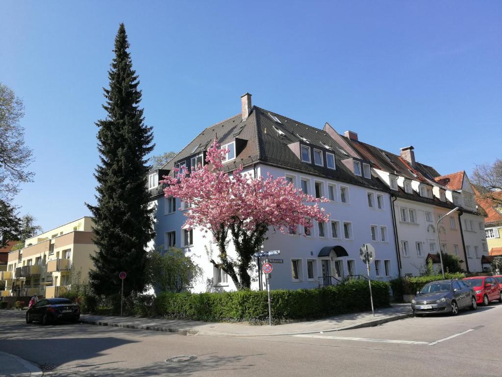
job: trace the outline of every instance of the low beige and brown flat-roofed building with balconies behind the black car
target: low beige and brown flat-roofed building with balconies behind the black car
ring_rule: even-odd
[[[7,271],[0,272],[6,281],[1,297],[59,297],[80,277],[86,281],[92,268],[90,255],[92,218],[83,217],[25,241],[21,250],[9,253]]]

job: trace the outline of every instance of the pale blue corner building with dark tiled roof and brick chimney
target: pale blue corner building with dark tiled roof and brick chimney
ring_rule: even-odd
[[[348,275],[365,275],[365,265],[359,259],[364,243],[376,249],[372,277],[396,277],[399,270],[390,190],[374,174],[371,162],[355,156],[329,124],[321,130],[252,106],[248,93],[242,96],[241,105],[240,114],[204,129],[163,169],[152,172],[149,180],[152,203],[157,205],[155,247],[160,251],[181,247],[195,257],[204,278],[193,291],[235,287],[226,273],[209,261],[208,254],[217,261],[217,247],[210,234],[204,238],[202,229],[182,229],[183,206],[174,198],[164,198],[158,180],[172,174],[173,167],[184,164],[190,168],[204,161],[215,137],[230,149],[225,163],[228,171],[242,164],[244,172],[254,176],[266,177],[268,172],[283,175],[299,189],[330,200],[322,204],[331,213],[330,222],[315,224],[309,235],[304,236],[304,229],[287,235],[273,229],[267,233],[263,250],[281,250],[272,260],[272,289],[314,288],[336,284]],[[231,254],[231,243],[229,247]],[[253,288],[257,289],[257,272],[255,278]]]

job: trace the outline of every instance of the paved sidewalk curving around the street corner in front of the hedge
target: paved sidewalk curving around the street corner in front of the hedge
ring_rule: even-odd
[[[209,336],[274,336],[296,335],[370,327],[413,316],[410,304],[393,304],[392,308],[371,312],[344,314],[314,321],[295,322],[275,326],[254,326],[247,323],[200,322],[163,318],[137,318],[81,315],[80,322],[131,329],[178,332],[185,335]]]

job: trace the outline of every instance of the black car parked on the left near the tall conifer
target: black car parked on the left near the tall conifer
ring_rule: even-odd
[[[43,299],[26,312],[26,323],[39,321],[42,325],[59,320],[77,322],[79,318],[79,306],[68,299]]]

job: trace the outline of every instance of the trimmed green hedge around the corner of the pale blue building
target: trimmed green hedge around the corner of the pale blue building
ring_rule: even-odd
[[[389,283],[372,281],[374,305],[390,306]],[[371,309],[367,280],[321,289],[272,291],[272,317],[276,320],[323,318]],[[200,321],[264,321],[268,319],[265,291],[223,293],[161,293],[155,299],[155,314]],[[146,314],[146,313],[142,313]]]

